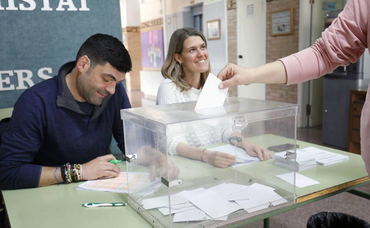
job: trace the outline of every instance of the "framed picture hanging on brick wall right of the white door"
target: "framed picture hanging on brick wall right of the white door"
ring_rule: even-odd
[[[293,8],[271,12],[271,35],[293,33]]]

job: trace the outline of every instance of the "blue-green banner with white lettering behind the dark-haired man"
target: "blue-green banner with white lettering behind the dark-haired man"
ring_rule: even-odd
[[[0,0],[0,108],[57,75],[95,33],[122,41],[120,0]]]

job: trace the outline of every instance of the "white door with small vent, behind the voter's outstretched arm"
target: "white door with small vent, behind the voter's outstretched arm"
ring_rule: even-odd
[[[238,65],[257,67],[266,63],[266,1],[237,2]],[[266,98],[265,84],[239,85],[238,96]]]

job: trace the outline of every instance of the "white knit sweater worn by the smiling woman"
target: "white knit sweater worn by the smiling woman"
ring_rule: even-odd
[[[157,105],[165,105],[171,103],[180,103],[188,101],[198,101],[202,89],[192,87],[188,91],[180,91],[176,84],[171,79],[164,79],[159,86],[157,92]],[[205,129],[205,130],[203,130]],[[220,142],[228,142],[228,137],[232,133],[231,127],[223,126],[199,126],[196,129],[186,128],[183,134],[167,136],[167,150],[169,154],[177,154],[176,146],[179,142],[188,144],[189,146],[200,147],[204,145],[216,144]]]

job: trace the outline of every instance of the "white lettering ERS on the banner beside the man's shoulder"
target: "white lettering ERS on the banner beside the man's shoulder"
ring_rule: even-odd
[[[43,67],[38,69],[37,76],[41,79],[48,79],[51,78],[50,75],[44,74],[44,72],[48,74],[52,74],[53,70],[50,67]],[[14,85],[10,84],[10,77],[17,76],[18,86],[15,87]],[[32,81],[32,71],[30,70],[14,70],[14,71],[0,71],[0,91],[9,91],[9,90],[19,90],[19,89],[27,89],[34,85]],[[28,87],[26,86],[25,82],[27,83]]]

